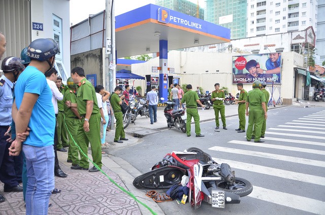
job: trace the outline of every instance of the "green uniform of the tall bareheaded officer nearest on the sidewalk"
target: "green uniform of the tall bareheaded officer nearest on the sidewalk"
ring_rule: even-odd
[[[101,147],[101,133],[100,133],[100,123],[101,114],[98,108],[97,98],[95,94],[95,89],[91,83],[86,79],[82,79],[78,84],[77,90],[77,106],[78,113],[81,117],[86,116],[86,104],[87,100],[93,101],[93,108],[91,112],[91,117],[89,120],[89,132],[85,132],[83,129],[84,118],[82,118],[81,123],[78,127],[77,132],[77,143],[79,144],[82,152],[87,155],[88,146],[90,142],[91,146],[91,156],[95,164],[102,168],[102,147]],[[89,168],[88,159],[80,153],[80,163],[79,166],[83,168]]]

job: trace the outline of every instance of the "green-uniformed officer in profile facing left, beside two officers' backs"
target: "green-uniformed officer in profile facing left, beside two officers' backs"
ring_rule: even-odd
[[[235,104],[238,104],[238,118],[239,118],[239,128],[235,129],[238,133],[245,132],[246,117],[245,117],[245,103],[247,98],[247,92],[243,88],[242,83],[237,84],[237,89],[240,91],[239,98],[235,99]]]

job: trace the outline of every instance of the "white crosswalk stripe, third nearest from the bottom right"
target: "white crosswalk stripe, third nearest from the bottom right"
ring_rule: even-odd
[[[228,147],[211,147],[210,150],[226,152],[226,153],[234,153],[234,154],[240,154],[240,155],[262,157],[262,158],[269,158],[269,159],[275,159],[275,160],[282,160],[282,161],[287,161],[287,162],[301,163],[301,164],[306,164],[306,165],[311,165],[311,166],[325,167],[325,161],[310,160],[310,159],[297,158],[297,157],[286,156],[286,155],[276,155],[276,154],[270,154],[270,153],[265,153],[265,152],[255,152],[255,151],[234,149],[234,148],[228,148]]]

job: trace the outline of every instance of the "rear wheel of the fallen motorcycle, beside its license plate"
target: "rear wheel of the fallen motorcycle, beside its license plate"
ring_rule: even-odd
[[[215,185],[218,189],[244,197],[253,191],[253,186],[244,178],[236,177],[235,184],[229,185],[223,179],[217,180]]]

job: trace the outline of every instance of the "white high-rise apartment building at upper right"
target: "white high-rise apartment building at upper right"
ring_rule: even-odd
[[[317,0],[247,0],[247,37],[317,31]]]

